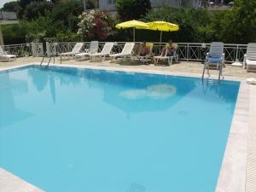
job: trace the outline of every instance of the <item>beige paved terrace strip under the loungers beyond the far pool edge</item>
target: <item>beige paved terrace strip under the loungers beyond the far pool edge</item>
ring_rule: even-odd
[[[3,67],[15,67],[21,64],[40,62],[42,60],[41,57],[21,57],[16,61],[10,62],[0,62],[0,68]],[[46,62],[47,59],[44,60]],[[59,58],[55,60],[56,64],[60,63]],[[120,68],[137,68],[143,70],[158,70],[163,72],[171,72],[171,73],[195,73],[201,74],[203,65],[200,62],[191,62],[191,61],[179,61],[172,66],[159,65],[154,66],[153,64],[149,64],[148,66],[144,65],[142,62],[118,62],[113,63],[110,61],[102,61],[102,62],[90,62],[90,61],[62,61],[62,64],[71,64],[71,65],[81,65],[81,66],[97,66],[97,67],[120,67]],[[212,75],[218,75],[218,70],[210,70]],[[241,79],[246,78],[256,78],[256,73],[247,73],[245,69],[241,67],[231,67],[229,64],[224,67],[223,74],[225,77],[236,77]],[[207,75],[206,75],[207,77]]]

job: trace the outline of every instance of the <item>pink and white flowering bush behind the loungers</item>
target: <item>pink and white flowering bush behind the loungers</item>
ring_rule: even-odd
[[[113,30],[113,20],[105,12],[90,10],[79,15],[78,34],[85,40],[106,40]]]

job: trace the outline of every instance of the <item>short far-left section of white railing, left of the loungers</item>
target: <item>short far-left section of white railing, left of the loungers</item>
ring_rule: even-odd
[[[17,56],[43,56],[44,49],[42,43],[32,43],[32,44],[9,44],[2,45],[4,51],[9,55]]]

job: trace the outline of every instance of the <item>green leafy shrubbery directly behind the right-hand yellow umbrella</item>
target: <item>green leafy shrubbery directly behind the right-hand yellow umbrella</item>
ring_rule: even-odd
[[[152,10],[144,21],[165,20],[177,24],[180,28],[177,32],[163,32],[163,40],[172,38],[176,42],[207,42],[211,38],[208,25],[212,15],[206,9],[162,9]],[[156,32],[143,31],[144,37],[148,34],[148,40],[158,41]],[[159,32],[158,32],[159,33]]]

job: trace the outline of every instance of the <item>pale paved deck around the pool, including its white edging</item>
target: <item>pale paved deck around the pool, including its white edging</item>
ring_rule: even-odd
[[[0,71],[7,68],[24,66],[27,63],[37,63],[39,61],[41,61],[41,58],[29,57],[20,58],[17,61],[9,63],[0,62]],[[201,77],[202,71],[202,65],[195,62],[181,62],[171,67],[145,66],[129,62],[115,64],[109,61],[64,61],[62,63],[61,65],[55,64],[55,66],[96,68],[131,73],[160,73],[187,77]],[[212,79],[217,79],[218,72],[216,70],[211,70],[211,74]],[[241,86],[223,164],[218,177],[216,192],[256,191],[256,85],[249,85],[245,82],[246,78],[252,77],[256,78],[256,73],[246,73],[244,69],[237,67],[227,66],[224,68],[224,79],[241,81]],[[9,178],[10,180],[4,179],[4,174],[9,173],[0,169],[0,192],[9,192],[10,190],[7,189],[9,189],[9,183],[12,181],[11,178]],[[15,179],[16,177],[14,177],[14,181]],[[39,191],[33,189],[26,190],[26,187],[24,187],[24,190],[20,190],[23,188],[23,185],[24,183],[20,180],[20,185],[15,185],[17,189],[11,191]]]

